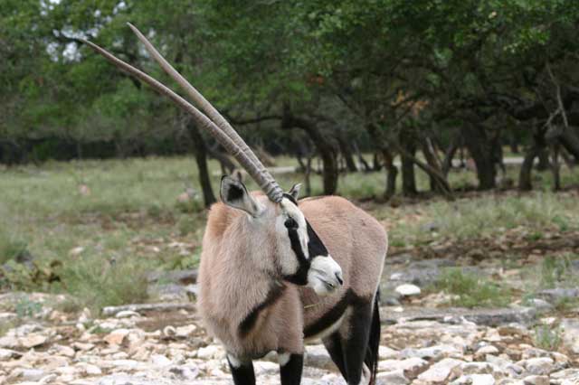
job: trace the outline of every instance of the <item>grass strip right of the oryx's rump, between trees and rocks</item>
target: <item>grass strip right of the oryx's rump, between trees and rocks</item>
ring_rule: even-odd
[[[529,240],[538,240],[546,230],[579,229],[576,197],[552,192],[489,194],[456,202],[438,200],[403,210],[415,221],[396,223],[390,234],[396,246],[427,244],[436,239],[497,237],[514,229],[527,234]],[[390,210],[384,208],[375,214],[386,219]]]

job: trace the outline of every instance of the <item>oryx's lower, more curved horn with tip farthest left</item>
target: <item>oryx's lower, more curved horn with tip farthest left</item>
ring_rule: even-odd
[[[249,157],[246,153],[242,151],[242,149],[237,146],[233,139],[225,134],[223,130],[217,127],[213,120],[209,119],[209,117],[205,117],[204,113],[199,111],[195,106],[189,103],[187,100],[183,99],[181,96],[177,95],[175,91],[172,89],[168,89],[163,83],[156,80],[155,78],[147,75],[147,73],[143,72],[142,70],[138,70],[135,67],[131,66],[125,61],[121,61],[119,58],[115,57],[110,52],[107,52],[103,48],[100,48],[97,44],[93,42],[89,42],[87,40],[81,40],[94,51],[100,53],[102,56],[105,57],[108,61],[119,67],[121,70],[127,71],[130,75],[134,76],[138,80],[141,80],[151,86],[153,89],[156,89],[159,93],[165,95],[169,99],[173,100],[177,106],[183,108],[185,112],[191,115],[199,127],[207,130],[209,134],[215,137],[215,139],[222,145],[227,152],[229,152],[237,161],[242,165],[242,167],[247,171],[248,174],[252,176],[252,178],[257,182],[263,191],[268,195],[268,197],[273,202],[280,202],[282,198],[283,191],[280,189],[280,186],[275,183],[272,185],[271,181],[260,172],[258,167],[253,164],[252,158]],[[275,182],[275,181],[274,181]],[[268,189],[266,190],[262,186],[267,186]]]

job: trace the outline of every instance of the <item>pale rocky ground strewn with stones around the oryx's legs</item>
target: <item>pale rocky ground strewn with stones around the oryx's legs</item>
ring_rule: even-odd
[[[576,297],[576,288],[545,290],[527,306],[441,306],[447,296],[424,296],[421,287],[452,263],[403,256],[389,261],[378,383],[579,384],[579,309],[560,314],[553,308],[561,296]],[[195,302],[187,301],[195,296],[194,276],[177,274],[175,284],[157,286],[165,299],[160,304],[105,308],[104,318],[86,309],[54,310],[51,304],[61,299],[54,296],[0,296],[0,384],[232,383],[223,349],[204,333]],[[537,336],[540,331],[548,341]],[[538,347],[546,343],[554,348]],[[254,366],[260,383],[279,383],[274,355]],[[345,382],[323,346],[309,345],[302,383]]]

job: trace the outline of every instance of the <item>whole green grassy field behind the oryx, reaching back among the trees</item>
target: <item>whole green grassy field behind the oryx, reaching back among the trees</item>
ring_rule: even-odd
[[[210,167],[217,192],[220,169],[213,161]],[[509,177],[516,179],[516,173],[509,171]],[[427,190],[428,178],[420,171],[417,175],[419,188]],[[564,185],[579,181],[577,170],[565,168],[562,176]],[[289,188],[301,178],[282,174],[278,180]],[[190,158],[49,163],[0,171],[0,287],[66,293],[72,306],[93,309],[147,300],[148,272],[198,262],[205,219],[201,197],[177,199],[186,188],[195,188],[196,179]],[[371,198],[382,195],[384,179],[384,173],[342,175],[338,193],[383,221],[394,248],[496,237],[519,228],[539,238],[548,231],[579,229],[576,193],[549,192],[548,173],[536,174],[536,186],[541,186],[536,192],[491,192],[456,202],[436,197],[375,202]],[[452,173],[450,181],[458,187],[476,184],[471,172]],[[312,176],[312,192],[321,193],[318,175]]]

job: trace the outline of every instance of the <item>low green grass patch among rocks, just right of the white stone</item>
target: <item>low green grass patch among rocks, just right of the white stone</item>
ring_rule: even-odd
[[[432,289],[458,296],[451,305],[461,307],[505,306],[510,302],[510,290],[461,268],[444,269]]]

